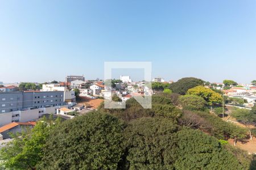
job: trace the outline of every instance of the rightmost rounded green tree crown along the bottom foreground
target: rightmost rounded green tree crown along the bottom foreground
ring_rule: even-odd
[[[242,169],[238,160],[216,138],[199,130],[177,132],[175,169]]]

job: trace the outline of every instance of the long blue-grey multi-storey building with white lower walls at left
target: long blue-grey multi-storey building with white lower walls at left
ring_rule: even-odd
[[[63,91],[0,93],[0,127],[35,120],[45,113],[56,113],[60,107],[67,107]]]

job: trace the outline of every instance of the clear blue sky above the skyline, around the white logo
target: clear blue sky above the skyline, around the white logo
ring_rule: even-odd
[[[256,1],[0,1],[0,82],[104,78],[104,61],[250,82]]]

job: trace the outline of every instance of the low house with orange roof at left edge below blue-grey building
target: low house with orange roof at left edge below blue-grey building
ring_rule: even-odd
[[[11,122],[0,128],[0,134],[2,134],[3,139],[10,138],[10,133],[16,134],[21,133],[22,130],[26,128],[32,128],[35,126],[36,122]]]

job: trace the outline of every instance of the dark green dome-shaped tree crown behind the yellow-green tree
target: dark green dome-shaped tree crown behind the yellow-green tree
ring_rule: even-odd
[[[175,83],[170,84],[170,89],[180,95],[185,95],[190,88],[203,86],[204,81],[197,78],[182,78]]]

